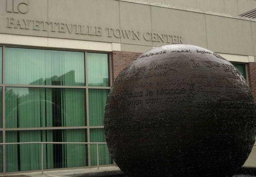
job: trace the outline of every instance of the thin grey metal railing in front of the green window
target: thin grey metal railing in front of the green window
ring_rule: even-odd
[[[41,166],[42,174],[44,174],[44,144],[96,144],[97,146],[97,169],[100,169],[99,165],[99,144],[107,144],[103,142],[22,142],[22,143],[0,143],[0,145],[15,145],[15,144],[41,144]],[[4,154],[3,154],[4,155]],[[113,165],[116,166],[113,160]]]

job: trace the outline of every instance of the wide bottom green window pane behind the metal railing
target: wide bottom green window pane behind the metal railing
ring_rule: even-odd
[[[86,142],[85,129],[6,131],[6,142]],[[85,144],[47,144],[44,169],[86,166]],[[6,171],[41,169],[41,144],[6,146]]]

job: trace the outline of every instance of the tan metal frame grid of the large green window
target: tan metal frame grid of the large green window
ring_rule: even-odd
[[[112,86],[112,65],[111,65],[111,53],[104,51],[87,51],[79,49],[69,49],[69,48],[44,48],[44,47],[34,47],[34,46],[22,46],[22,45],[4,45],[0,44],[2,47],[2,121],[3,128],[0,128],[0,131],[3,132],[3,143],[6,143],[6,131],[33,131],[33,130],[64,130],[64,129],[86,129],[87,136],[87,159],[88,167],[91,166],[91,150],[90,150],[90,129],[103,129],[104,126],[90,126],[90,117],[89,117],[89,89],[104,89],[110,90]],[[14,84],[5,84],[5,49],[8,48],[27,48],[27,49],[41,49],[41,50],[57,50],[57,51],[70,51],[70,52],[83,52],[84,53],[84,70],[85,70],[85,85],[84,86],[70,86],[70,85],[14,85]],[[100,86],[88,86],[88,53],[102,53],[108,54],[108,73],[109,73],[109,86],[100,87]],[[70,89],[84,89],[85,91],[85,111],[86,111],[86,126],[74,126],[74,127],[26,127],[26,128],[6,128],[5,127],[5,89],[8,87],[17,87],[17,88],[70,88]],[[86,159],[86,158],[85,158]],[[87,163],[87,162],[86,162]],[[6,148],[3,145],[3,173],[6,173]]]

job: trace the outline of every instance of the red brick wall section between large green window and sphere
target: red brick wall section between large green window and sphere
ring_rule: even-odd
[[[125,52],[125,51],[113,51],[111,55],[112,65],[112,82],[115,78],[131,61],[139,56],[141,53]]]

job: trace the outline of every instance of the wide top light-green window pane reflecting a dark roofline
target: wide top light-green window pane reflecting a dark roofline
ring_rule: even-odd
[[[5,81],[20,85],[84,85],[84,52],[6,48]]]

